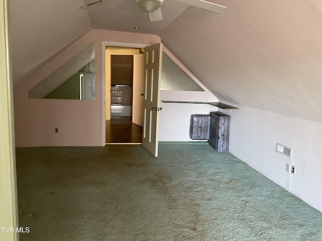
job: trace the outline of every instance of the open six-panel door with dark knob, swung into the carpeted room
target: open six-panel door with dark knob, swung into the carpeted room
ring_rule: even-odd
[[[158,151],[158,114],[161,110],[159,107],[161,66],[162,44],[146,47],[142,145],[155,157]]]

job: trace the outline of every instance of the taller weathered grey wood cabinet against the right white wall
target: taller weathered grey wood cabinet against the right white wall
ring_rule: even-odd
[[[229,115],[210,112],[209,145],[218,152],[229,151],[229,125]]]

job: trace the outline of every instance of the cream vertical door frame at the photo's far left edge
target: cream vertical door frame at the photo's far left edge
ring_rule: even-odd
[[[14,100],[11,52],[8,38],[8,2],[0,2],[0,223],[18,227],[17,172],[15,156]],[[3,240],[19,240],[18,232],[1,232]]]

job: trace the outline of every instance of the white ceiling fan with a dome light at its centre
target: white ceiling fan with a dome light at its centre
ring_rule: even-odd
[[[110,2],[111,0],[99,0],[97,2],[88,4],[81,9],[87,9],[96,4],[103,2]],[[205,9],[214,13],[221,13],[226,7],[217,5],[214,3],[210,3],[204,0],[175,0],[177,2],[181,2],[184,4],[189,4],[191,6],[195,6],[197,8]],[[164,4],[164,0],[135,0],[137,6],[147,13],[149,20],[151,22],[163,20],[161,6]]]

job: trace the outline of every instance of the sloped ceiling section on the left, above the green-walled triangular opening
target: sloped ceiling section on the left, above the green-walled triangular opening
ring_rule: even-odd
[[[83,0],[10,0],[9,32],[14,85],[92,29]]]

